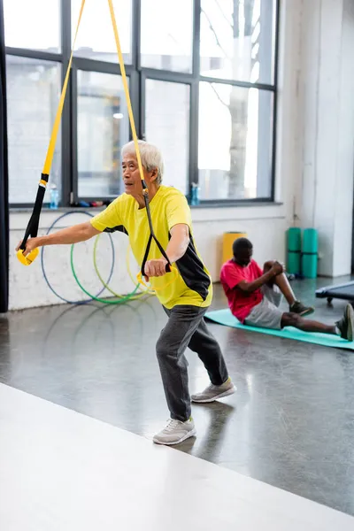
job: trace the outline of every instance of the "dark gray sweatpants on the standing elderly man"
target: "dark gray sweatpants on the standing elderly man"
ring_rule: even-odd
[[[164,310],[168,321],[156,345],[158,364],[171,418],[185,421],[191,412],[188,361],[184,355],[187,347],[203,361],[214,385],[227,381],[227,366],[219,343],[205,325],[208,308],[176,305]]]

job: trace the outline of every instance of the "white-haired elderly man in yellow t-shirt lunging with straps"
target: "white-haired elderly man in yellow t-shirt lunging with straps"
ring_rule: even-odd
[[[196,435],[191,399],[199,403],[212,402],[233,394],[235,386],[228,376],[219,344],[204,322],[204,314],[212,302],[212,280],[196,250],[186,197],[177,189],[161,184],[164,163],[158,148],[139,141],[139,150],[144,180],[149,189],[152,225],[158,242],[178,271],[176,277],[169,278],[173,273],[166,274],[167,260],[152,242],[143,273],[151,287],[157,290],[159,302],[168,316],[156,350],[171,415],[166,427],[154,436],[153,441],[177,444]],[[105,230],[119,230],[128,235],[135,258],[142,264],[150,227],[134,142],[127,143],[122,149],[122,167],[124,194],[87,223],[29,239],[24,255],[43,245],[84,242]],[[204,391],[191,398],[185,357],[187,347],[202,360],[211,380]]]

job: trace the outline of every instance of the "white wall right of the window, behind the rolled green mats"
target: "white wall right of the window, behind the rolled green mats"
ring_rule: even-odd
[[[319,274],[350,273],[354,160],[354,2],[303,0],[296,214],[319,230]]]

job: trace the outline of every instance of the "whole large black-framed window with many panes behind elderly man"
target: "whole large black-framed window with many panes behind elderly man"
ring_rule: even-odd
[[[164,183],[197,186],[201,204],[272,201],[279,0],[113,5],[137,133],[162,150]],[[13,205],[35,200],[80,6],[4,0]],[[118,196],[130,139],[109,4],[86,0],[50,172],[61,204]]]

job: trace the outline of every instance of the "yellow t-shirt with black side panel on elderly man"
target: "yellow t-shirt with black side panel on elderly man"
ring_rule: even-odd
[[[160,186],[150,201],[150,212],[155,235],[164,249],[167,248],[174,225],[188,225],[190,235],[188,250],[174,265],[178,268],[177,277],[174,278],[173,273],[166,273],[163,277],[150,279],[151,287],[157,289],[160,303],[168,310],[176,304],[209,306],[212,302],[212,279],[196,250],[186,197],[177,189]],[[142,265],[150,228],[146,209],[139,209],[134,197],[122,194],[91,219],[91,224],[101,232],[112,232],[110,229],[114,229],[127,233],[135,259],[139,266]],[[152,258],[161,258],[154,240],[151,242],[148,259]]]

